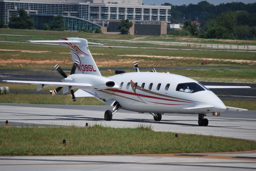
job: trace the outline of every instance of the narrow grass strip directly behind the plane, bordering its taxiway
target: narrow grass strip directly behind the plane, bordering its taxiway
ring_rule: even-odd
[[[226,106],[238,107],[248,110],[256,110],[255,101],[251,100],[222,100]],[[50,94],[26,94],[26,93],[10,93],[0,95],[0,103],[30,103],[30,104],[59,104],[59,105],[104,105],[94,97],[78,97],[76,102],[72,101],[70,95],[54,95]]]

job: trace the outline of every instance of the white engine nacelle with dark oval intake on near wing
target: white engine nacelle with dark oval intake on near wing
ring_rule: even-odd
[[[72,79],[73,82],[91,84],[93,89],[106,89],[114,87],[115,83],[102,76],[90,75],[90,74],[72,74],[66,78],[66,80]]]

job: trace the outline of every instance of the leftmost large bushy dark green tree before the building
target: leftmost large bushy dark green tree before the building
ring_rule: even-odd
[[[28,16],[25,10],[18,10],[19,16],[12,16],[9,22],[9,28],[32,29],[34,20]]]

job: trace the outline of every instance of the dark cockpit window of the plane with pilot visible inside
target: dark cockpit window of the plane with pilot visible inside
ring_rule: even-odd
[[[186,93],[196,93],[198,91],[204,91],[205,89],[197,83],[182,83],[178,84],[176,91],[182,91]]]

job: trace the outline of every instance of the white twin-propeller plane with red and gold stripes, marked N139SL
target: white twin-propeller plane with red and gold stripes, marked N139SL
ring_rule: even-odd
[[[162,119],[163,113],[198,114],[198,125],[207,126],[206,114],[220,115],[220,112],[244,111],[246,109],[225,106],[210,88],[250,88],[247,86],[208,86],[190,78],[170,73],[137,72],[118,74],[108,78],[101,76],[87,42],[82,38],[64,38],[60,40],[30,41],[34,43],[58,43],[70,48],[74,65],[67,76],[57,64],[54,68],[63,77],[62,82],[37,82],[3,80],[10,83],[38,85],[37,90],[47,86],[56,86],[52,93],[71,91],[73,101],[76,97],[96,97],[106,105],[113,106],[107,110],[104,119],[110,121],[118,109],[139,113],[150,113],[155,121]],[[76,73],[76,74],[75,74]],[[73,89],[78,88],[74,93]]]

